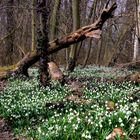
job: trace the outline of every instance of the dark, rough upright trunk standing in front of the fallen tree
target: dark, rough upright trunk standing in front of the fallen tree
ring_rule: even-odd
[[[43,86],[49,85],[49,72],[48,72],[48,5],[46,0],[38,0],[38,13],[39,13],[39,29],[38,29],[38,46],[37,53],[40,55],[40,82]]]

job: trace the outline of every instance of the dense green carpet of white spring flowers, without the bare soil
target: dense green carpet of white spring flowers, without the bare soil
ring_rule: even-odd
[[[15,134],[38,140],[104,140],[113,128],[121,127],[126,139],[138,138],[140,104],[133,93],[140,86],[87,81],[90,87],[83,91],[84,98],[94,102],[65,102],[63,108],[52,109],[46,108],[46,102],[63,101],[70,94],[69,88],[58,83],[53,83],[51,89],[40,87],[37,72],[34,75],[31,80],[11,79],[0,94],[0,114],[12,122]],[[81,75],[87,76],[88,69]],[[107,105],[109,101],[114,104],[112,110]]]

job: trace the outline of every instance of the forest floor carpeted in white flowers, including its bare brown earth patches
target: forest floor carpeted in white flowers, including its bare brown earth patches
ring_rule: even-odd
[[[65,73],[68,84],[46,88],[40,88],[36,69],[30,79],[1,81],[0,140],[105,140],[114,128],[125,140],[139,139],[140,85],[115,80],[133,72],[76,68]]]

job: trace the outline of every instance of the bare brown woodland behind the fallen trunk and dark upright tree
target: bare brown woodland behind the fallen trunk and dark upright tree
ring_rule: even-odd
[[[115,1],[115,0],[114,0]],[[49,41],[93,23],[107,0],[47,0]],[[113,2],[113,1],[111,1]],[[51,58],[67,64],[114,65],[138,60],[139,0],[116,0],[115,16],[104,27],[101,39],[86,39],[78,47],[63,49]],[[0,2],[0,65],[16,64],[37,47],[39,17],[36,0]]]

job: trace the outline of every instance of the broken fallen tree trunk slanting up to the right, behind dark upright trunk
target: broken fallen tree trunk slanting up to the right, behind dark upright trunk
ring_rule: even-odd
[[[110,1],[110,0],[109,0]],[[71,44],[78,43],[83,41],[88,37],[100,38],[101,31],[103,24],[106,22],[107,19],[112,18],[113,11],[117,8],[116,3],[113,3],[109,8],[108,4],[105,5],[104,9],[102,10],[101,15],[99,18],[91,25],[84,26],[79,30],[71,33],[70,35],[61,37],[60,39],[57,38],[52,42],[49,42],[49,47],[47,49],[48,54],[55,53],[63,48],[68,48]],[[28,76],[28,68],[36,63],[40,58],[39,53],[32,52],[28,53],[18,64],[15,70],[8,72],[6,77],[12,75],[25,75]],[[5,77],[5,75],[4,75]]]

